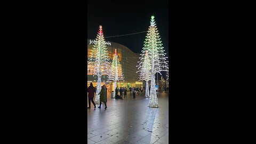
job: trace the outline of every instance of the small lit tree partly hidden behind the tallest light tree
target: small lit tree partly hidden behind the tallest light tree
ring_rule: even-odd
[[[149,59],[149,55],[146,51],[142,51],[142,54],[140,54],[140,60],[139,62],[139,71],[136,73],[139,73],[139,81],[146,81],[146,92],[145,92],[145,97],[149,98],[149,89],[148,89],[148,82],[151,80],[151,75],[150,75],[150,65],[151,61]]]

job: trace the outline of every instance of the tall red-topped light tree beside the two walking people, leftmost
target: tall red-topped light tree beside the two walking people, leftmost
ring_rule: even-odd
[[[92,67],[93,76],[98,76],[97,80],[97,91],[95,94],[95,103],[100,103],[100,90],[101,90],[101,76],[108,75],[109,72],[109,56],[106,46],[106,42],[103,36],[102,26],[99,27],[97,42],[94,44],[89,59],[89,66]]]

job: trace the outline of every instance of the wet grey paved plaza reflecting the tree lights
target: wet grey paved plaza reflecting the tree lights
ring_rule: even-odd
[[[119,92],[118,92],[119,94]],[[95,97],[94,97],[95,99]],[[87,109],[87,143],[168,143],[168,93],[158,93],[158,108],[148,107],[145,94],[127,92],[127,99],[111,99],[107,109]],[[89,104],[87,102],[87,106]]]

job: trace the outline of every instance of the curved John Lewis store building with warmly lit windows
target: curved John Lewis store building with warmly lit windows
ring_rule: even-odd
[[[94,45],[94,39],[87,39],[87,64],[89,63],[89,58],[91,55],[92,47]],[[118,87],[141,87],[145,86],[145,82],[139,81],[139,74],[136,73],[138,71],[138,61],[140,54],[132,52],[128,47],[106,41],[108,55],[110,58],[110,62],[112,62],[115,50],[118,53],[119,61],[122,65],[124,81],[117,81]],[[87,86],[90,83],[93,83],[93,86],[97,85],[97,76],[93,76],[92,67],[87,68]],[[108,92],[114,91],[114,81],[108,81],[108,77],[106,75],[101,76],[101,85],[105,84]]]

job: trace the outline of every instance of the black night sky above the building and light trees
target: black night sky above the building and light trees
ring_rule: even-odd
[[[158,33],[165,52],[168,52],[168,1],[87,1],[87,38],[95,39],[99,25],[104,36],[125,35],[148,30],[151,15],[155,16]],[[110,37],[106,41],[116,42],[141,53],[147,33]]]

